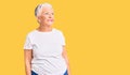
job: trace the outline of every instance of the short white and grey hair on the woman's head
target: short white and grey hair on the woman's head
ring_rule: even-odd
[[[35,16],[38,17],[41,14],[42,9],[47,6],[52,8],[50,3],[38,4],[37,8],[35,9]]]

